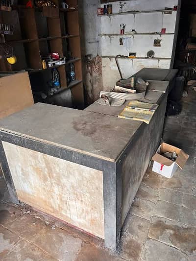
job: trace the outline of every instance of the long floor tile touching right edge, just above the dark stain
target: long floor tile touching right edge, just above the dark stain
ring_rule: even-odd
[[[158,201],[155,215],[189,225],[196,226],[196,211],[165,201]]]

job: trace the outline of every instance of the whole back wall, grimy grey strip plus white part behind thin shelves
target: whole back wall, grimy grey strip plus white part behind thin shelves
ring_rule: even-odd
[[[90,91],[93,85],[93,100],[96,100],[101,90],[110,90],[120,79],[120,74],[116,66],[114,57],[118,54],[128,55],[129,52],[137,52],[137,57],[145,58],[148,50],[155,52],[155,57],[161,59],[119,59],[123,77],[127,78],[144,67],[150,68],[170,68],[172,57],[174,56],[175,41],[177,35],[176,21],[178,24],[180,14],[180,0],[127,0],[123,6],[126,11],[152,11],[165,7],[178,5],[178,11],[172,14],[162,12],[137,13],[118,16],[97,16],[97,8],[100,0],[78,1],[79,18],[81,27],[81,50],[83,80],[88,103],[92,102]],[[113,13],[120,11],[119,1],[111,2]],[[119,34],[120,24],[126,24],[125,31],[135,29],[137,33],[145,35],[123,35],[123,36],[99,36],[99,34]],[[169,35],[148,35],[151,32],[160,32],[161,28],[166,28]],[[174,34],[175,33],[175,34]],[[120,46],[120,37],[126,38],[123,46]],[[153,47],[154,39],[161,39],[161,47]],[[87,70],[85,55],[91,54],[91,72]],[[99,55],[99,56],[97,56]],[[102,59],[101,59],[102,56]],[[113,58],[104,58],[112,56]]]

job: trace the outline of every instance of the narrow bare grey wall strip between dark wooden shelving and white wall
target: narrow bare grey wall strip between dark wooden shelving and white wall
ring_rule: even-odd
[[[88,103],[91,103],[92,99],[96,100],[102,90],[101,57],[99,57],[101,49],[98,36],[101,24],[97,16],[98,6],[100,6],[99,0],[78,0],[83,82]],[[93,97],[90,91],[90,73],[85,58],[88,54],[91,55]]]

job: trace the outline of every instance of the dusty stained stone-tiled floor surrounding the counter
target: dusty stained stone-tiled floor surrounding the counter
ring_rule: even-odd
[[[147,173],[125,220],[117,253],[103,241],[29,206],[13,205],[0,179],[0,260],[196,261],[196,95],[184,98],[179,116],[166,119],[164,141],[190,154],[172,179]]]

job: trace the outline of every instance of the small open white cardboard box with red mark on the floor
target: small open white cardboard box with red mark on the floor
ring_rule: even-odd
[[[167,151],[176,152],[177,158],[175,162],[161,155],[162,153]],[[159,146],[156,154],[152,157],[152,160],[154,161],[152,171],[159,173],[164,177],[172,178],[176,169],[178,167],[182,169],[185,163],[187,162],[188,158],[189,155],[186,154],[182,149],[179,149],[177,147],[163,142]]]

